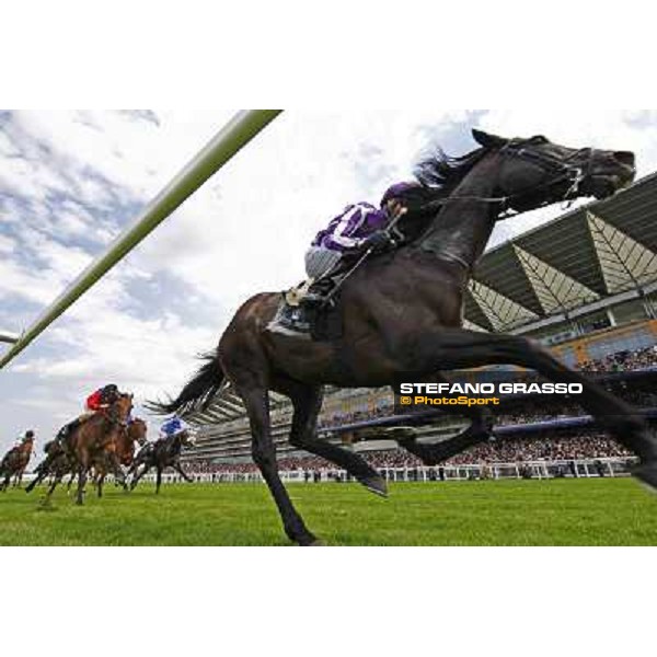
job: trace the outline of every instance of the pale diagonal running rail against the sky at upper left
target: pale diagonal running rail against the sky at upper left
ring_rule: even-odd
[[[32,341],[43,333],[62,312],[102,278],[118,261],[151,233],[187,197],[228,162],[279,114],[280,110],[243,110],[153,198],[132,226],[94,261],[42,313],[23,334],[3,342],[15,342],[0,359],[0,369],[11,362]]]

